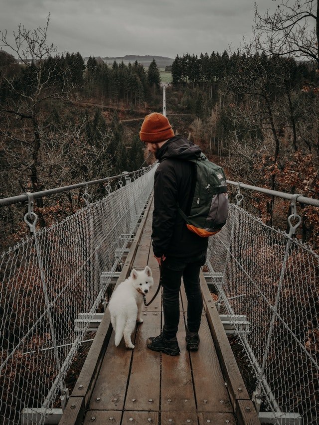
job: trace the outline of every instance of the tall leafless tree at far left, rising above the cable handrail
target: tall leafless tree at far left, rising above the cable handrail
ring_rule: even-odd
[[[42,189],[38,168],[47,142],[47,105],[50,99],[66,99],[74,89],[71,70],[49,64],[56,53],[53,44],[47,44],[49,19],[43,28],[33,30],[20,24],[13,32],[14,44],[7,40],[6,31],[0,32],[1,45],[11,49],[21,62],[17,74],[1,74],[0,90],[5,95],[0,102],[0,142],[11,159],[20,158],[18,181],[22,190],[27,186],[32,191]]]

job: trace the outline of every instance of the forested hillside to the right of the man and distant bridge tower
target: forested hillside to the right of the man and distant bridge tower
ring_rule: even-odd
[[[192,140],[217,156],[229,179],[318,198],[314,64],[265,51],[251,56],[224,51],[176,56],[171,72],[174,86],[183,89],[178,106],[196,116]],[[278,218],[290,215],[289,206],[277,202],[275,208],[274,200],[253,196],[249,201],[255,212],[283,228]],[[302,216],[300,237],[318,249],[318,211],[303,207]]]

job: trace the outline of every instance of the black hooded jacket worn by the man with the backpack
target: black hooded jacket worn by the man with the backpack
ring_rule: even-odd
[[[159,166],[154,180],[154,212],[152,225],[153,251],[156,257],[192,258],[207,249],[208,238],[187,229],[177,211],[177,204],[189,214],[194,193],[196,159],[200,147],[180,136],[163,144],[157,152]]]

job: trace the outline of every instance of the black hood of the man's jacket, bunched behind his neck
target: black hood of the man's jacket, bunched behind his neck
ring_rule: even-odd
[[[156,153],[156,158],[161,162],[166,158],[176,159],[197,159],[201,149],[196,144],[183,139],[181,136],[175,136],[164,143]]]

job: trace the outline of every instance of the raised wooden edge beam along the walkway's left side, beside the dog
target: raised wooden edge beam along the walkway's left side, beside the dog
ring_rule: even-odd
[[[152,203],[150,200],[116,285],[123,282],[130,273]],[[74,397],[84,397],[84,404],[88,405],[111,333],[111,318],[107,309],[67,404],[72,404]],[[61,420],[64,416],[63,414]]]

